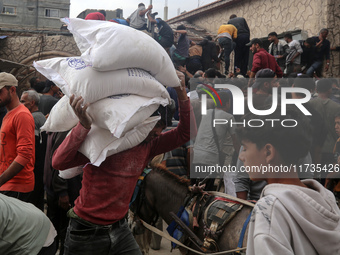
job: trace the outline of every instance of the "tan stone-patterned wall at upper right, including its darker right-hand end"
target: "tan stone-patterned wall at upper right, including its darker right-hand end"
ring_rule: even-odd
[[[187,20],[217,34],[219,26],[228,22],[231,14],[236,14],[247,20],[251,38],[266,37],[272,31],[280,34],[294,30],[302,30],[310,37],[326,27],[330,31],[331,46],[339,46],[339,13],[339,0],[244,0]],[[340,76],[339,52],[331,52],[331,68],[327,75]]]

